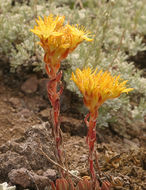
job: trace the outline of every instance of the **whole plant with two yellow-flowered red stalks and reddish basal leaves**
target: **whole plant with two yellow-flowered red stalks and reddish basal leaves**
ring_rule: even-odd
[[[47,92],[52,105],[52,132],[56,145],[55,156],[61,167],[64,167],[64,161],[62,158],[62,136],[59,119],[60,95],[63,92],[63,85],[61,83],[62,71],[59,71],[60,64],[81,42],[84,40],[92,41],[89,37],[90,33],[83,27],[65,25],[64,20],[64,16],[55,17],[50,14],[48,17],[44,16],[44,19],[39,17],[36,20],[37,25],[34,29],[31,29],[31,32],[40,38],[38,44],[45,52],[45,69],[50,79],[47,84]],[[89,114],[85,117],[85,123],[88,127],[87,144],[89,146],[91,178],[80,180],[77,186],[74,187],[72,180],[67,178],[68,175],[64,173],[64,170],[59,169],[62,178],[56,181],[56,185],[52,183],[51,188],[53,190],[109,190],[110,183],[107,180],[101,181],[96,177],[93,162],[98,109],[106,100],[117,98],[121,93],[128,93],[133,89],[127,88],[127,81],[122,81],[119,75],[113,77],[108,71],[104,73],[103,71],[99,71],[97,73],[97,69],[93,71],[90,67],[82,71],[78,68],[76,74],[72,73],[71,79],[83,94],[84,104],[89,109]]]

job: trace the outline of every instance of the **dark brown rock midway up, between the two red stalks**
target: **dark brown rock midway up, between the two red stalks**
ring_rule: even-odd
[[[87,134],[87,127],[82,120],[72,117],[61,116],[61,129],[71,135],[79,135],[81,137]]]

